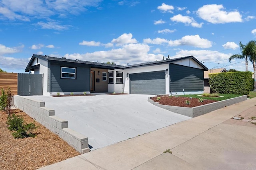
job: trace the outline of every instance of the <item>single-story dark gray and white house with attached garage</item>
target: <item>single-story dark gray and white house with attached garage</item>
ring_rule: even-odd
[[[116,92],[198,94],[206,66],[193,56],[133,65],[116,65],[33,55],[25,71],[43,74],[43,95]]]

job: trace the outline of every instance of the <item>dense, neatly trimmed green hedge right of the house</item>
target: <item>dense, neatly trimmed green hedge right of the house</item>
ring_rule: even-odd
[[[209,74],[211,90],[220,94],[249,94],[252,72],[222,72]]]

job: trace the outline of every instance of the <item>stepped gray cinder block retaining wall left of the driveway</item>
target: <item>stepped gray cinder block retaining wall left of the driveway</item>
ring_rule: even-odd
[[[44,102],[14,96],[14,106],[26,112],[44,127],[57,134],[81,154],[89,152],[88,137],[68,128],[68,121],[55,116],[55,111],[45,107]]]

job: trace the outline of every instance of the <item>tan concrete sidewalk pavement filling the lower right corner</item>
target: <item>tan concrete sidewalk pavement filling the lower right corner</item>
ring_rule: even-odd
[[[256,98],[240,102],[41,170],[254,170],[256,125],[248,121],[255,121],[255,104]]]

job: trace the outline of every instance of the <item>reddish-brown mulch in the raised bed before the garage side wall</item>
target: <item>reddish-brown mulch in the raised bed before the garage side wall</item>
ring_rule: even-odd
[[[167,96],[160,97],[160,100],[156,100],[157,97],[151,97],[154,102],[159,102],[162,105],[169,105],[169,106],[180,106],[180,107],[196,107],[201,106],[204,104],[209,104],[213,102],[217,102],[216,100],[204,100],[204,102],[198,102],[198,98],[187,98],[187,97],[175,97],[169,98]],[[189,100],[190,104],[185,104],[185,101]]]

